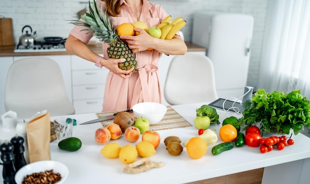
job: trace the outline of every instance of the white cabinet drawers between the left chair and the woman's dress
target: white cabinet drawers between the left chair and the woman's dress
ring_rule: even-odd
[[[104,87],[108,70],[94,63],[71,55],[72,97],[75,113],[102,110]]]

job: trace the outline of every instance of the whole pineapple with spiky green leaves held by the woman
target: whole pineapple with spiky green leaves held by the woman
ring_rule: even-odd
[[[86,13],[81,16],[83,21],[72,20],[72,24],[78,26],[86,26],[89,29],[83,29],[81,31],[89,31],[86,34],[93,34],[94,37],[100,41],[108,43],[107,55],[109,58],[120,59],[125,58],[126,61],[118,63],[118,67],[122,70],[129,70],[132,67],[134,70],[137,68],[137,60],[134,53],[128,48],[128,45],[124,43],[116,33],[116,29],[111,26],[110,20],[112,16],[106,17],[106,11],[103,12],[101,8],[100,14],[97,8],[96,0],[94,0],[94,9],[91,7],[89,1],[90,13]]]

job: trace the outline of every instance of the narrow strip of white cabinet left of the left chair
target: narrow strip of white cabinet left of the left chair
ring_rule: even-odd
[[[5,113],[4,92],[6,84],[7,71],[13,64],[13,57],[0,57],[0,115]],[[1,119],[0,119],[1,120]]]

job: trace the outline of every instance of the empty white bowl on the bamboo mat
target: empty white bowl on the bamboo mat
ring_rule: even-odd
[[[155,102],[142,102],[134,105],[132,110],[137,118],[146,118],[150,124],[158,123],[167,111],[167,107]]]

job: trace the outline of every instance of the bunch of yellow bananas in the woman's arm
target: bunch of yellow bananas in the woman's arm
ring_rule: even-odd
[[[177,17],[173,21],[171,21],[171,18],[172,16],[169,15],[158,24],[157,28],[161,30],[160,39],[172,39],[172,37],[186,24],[186,21],[183,20],[182,17]]]

